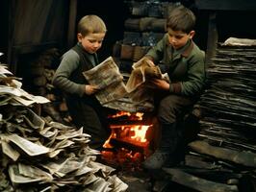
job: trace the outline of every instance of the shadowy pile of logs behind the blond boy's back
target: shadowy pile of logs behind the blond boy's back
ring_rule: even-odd
[[[71,119],[67,112],[63,92],[52,85],[52,78],[60,64],[60,58],[59,49],[46,49],[33,59],[27,60],[29,67],[20,75],[24,89],[51,101],[41,106],[41,113],[51,116],[55,121],[69,124]]]

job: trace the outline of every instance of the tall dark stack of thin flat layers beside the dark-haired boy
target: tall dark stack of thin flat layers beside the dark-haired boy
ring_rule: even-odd
[[[186,163],[166,169],[170,180],[198,191],[256,191],[256,47],[218,43],[198,139]]]

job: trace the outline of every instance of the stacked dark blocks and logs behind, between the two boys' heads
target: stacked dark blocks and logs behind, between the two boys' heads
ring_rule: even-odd
[[[122,72],[156,45],[166,33],[168,13],[179,3],[158,0],[126,1],[130,15],[124,21],[123,39],[115,42],[113,57]]]

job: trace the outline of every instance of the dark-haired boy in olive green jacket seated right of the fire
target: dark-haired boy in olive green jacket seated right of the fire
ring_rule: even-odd
[[[182,160],[182,135],[177,122],[199,97],[205,82],[204,52],[192,41],[195,16],[191,10],[178,6],[166,21],[166,35],[145,55],[167,73],[170,79],[152,79],[157,91],[157,116],[162,139],[155,153],[143,162],[145,169],[173,166]],[[155,91],[156,92],[156,91]]]

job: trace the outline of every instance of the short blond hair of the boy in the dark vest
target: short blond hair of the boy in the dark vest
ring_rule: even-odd
[[[90,14],[80,19],[77,27],[77,33],[82,36],[88,34],[106,33],[107,28],[104,21],[97,15]]]

